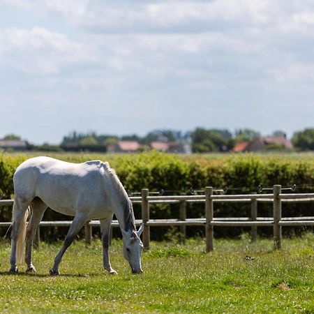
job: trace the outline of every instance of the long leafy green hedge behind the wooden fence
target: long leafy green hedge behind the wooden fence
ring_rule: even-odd
[[[299,193],[314,191],[314,159],[313,156],[255,156],[214,155],[214,156],[180,156],[160,154],[157,152],[130,155],[97,155],[97,154],[50,154],[61,160],[81,163],[86,160],[101,159],[109,161],[115,168],[125,188],[130,192],[140,192],[142,188],[151,191],[164,190],[167,195],[190,193],[190,188],[203,189],[205,186],[229,188],[227,193],[253,193],[256,187],[292,186],[297,184]],[[0,194],[3,199],[13,197],[12,177],[17,165],[31,156],[22,154],[0,154]],[[307,204],[285,204],[285,216],[314,216],[313,202]],[[271,216],[271,204],[259,204],[259,216]],[[178,217],[178,205],[151,205],[151,218]],[[215,216],[232,217],[247,216],[249,204],[215,205]],[[135,216],[140,217],[140,207],[135,206]],[[203,204],[189,204],[188,217],[204,216]],[[10,211],[1,211],[1,221],[10,220]],[[44,219],[64,219],[64,216],[47,211]],[[70,218],[69,218],[70,219]],[[48,228],[47,228],[48,229]],[[188,227],[188,234],[203,235],[204,228]],[[176,232],[177,229],[173,229]],[[235,237],[248,229],[235,227],[217,227],[216,236]],[[302,228],[284,228],[285,232],[300,232]],[[57,228],[44,231],[46,237],[54,239],[66,232],[57,232]],[[152,228],[153,238],[163,239],[170,234],[167,228]],[[271,234],[270,228],[260,228],[261,234]]]

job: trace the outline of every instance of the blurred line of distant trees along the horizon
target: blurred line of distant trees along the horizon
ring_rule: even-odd
[[[285,132],[276,130],[272,136],[286,137]],[[190,144],[193,153],[227,152],[239,142],[253,142],[260,137],[260,132],[250,128],[235,130],[231,133],[226,128],[195,128],[193,131],[181,132],[179,130],[154,130],[144,136],[133,135],[103,135],[95,132],[78,133],[73,131],[64,136],[59,145],[32,145],[28,143],[27,149],[39,151],[100,151],[106,152],[107,147],[117,144],[119,141],[136,141],[142,145],[142,149],[149,149],[151,142],[177,142]],[[5,139],[19,140],[17,135],[6,135]],[[306,128],[295,132],[292,136],[292,144],[296,151],[314,150],[314,128]],[[269,150],[284,149],[280,145],[269,145]]]

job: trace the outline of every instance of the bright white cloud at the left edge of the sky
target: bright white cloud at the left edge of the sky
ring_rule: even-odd
[[[42,27],[0,29],[0,55],[6,59],[0,63],[36,74],[58,73],[64,65],[93,59],[82,44]]]

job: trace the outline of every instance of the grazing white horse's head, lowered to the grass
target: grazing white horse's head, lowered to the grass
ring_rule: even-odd
[[[144,226],[141,225],[138,231],[126,232],[121,229],[123,239],[124,239],[124,257],[130,264],[133,274],[142,273],[141,267],[141,255],[143,251],[143,244],[140,239],[140,235]]]

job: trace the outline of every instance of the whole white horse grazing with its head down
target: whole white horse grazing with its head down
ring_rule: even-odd
[[[74,216],[66,239],[54,260],[51,275],[59,274],[62,256],[77,232],[87,220],[99,219],[103,241],[103,266],[110,274],[117,274],[109,260],[109,234],[112,216],[119,221],[124,242],[124,257],[133,274],[142,272],[143,249],[140,234],[136,231],[132,203],[117,174],[109,163],[100,160],[86,163],[66,163],[49,157],[30,158],[15,171],[13,230],[10,255],[10,272],[17,272],[25,248],[27,271],[36,271],[31,262],[31,246],[36,228],[47,207],[61,214]],[[31,218],[27,223],[28,209]]]

